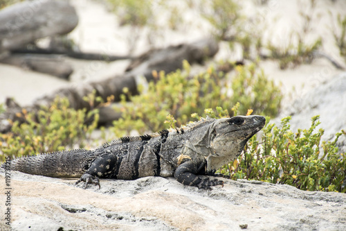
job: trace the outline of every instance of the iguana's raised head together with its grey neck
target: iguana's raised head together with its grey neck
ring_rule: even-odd
[[[199,157],[205,157],[206,170],[215,171],[235,160],[248,139],[260,131],[265,123],[266,119],[261,116],[207,119],[190,127],[193,132],[189,133],[185,148]]]

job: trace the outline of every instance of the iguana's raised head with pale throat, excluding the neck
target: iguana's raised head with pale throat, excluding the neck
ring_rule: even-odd
[[[235,160],[242,153],[248,139],[260,131],[266,119],[261,116],[237,116],[217,119],[210,127],[207,169],[209,171]]]

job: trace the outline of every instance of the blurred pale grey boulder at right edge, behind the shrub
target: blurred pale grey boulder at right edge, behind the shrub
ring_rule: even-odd
[[[338,74],[326,83],[318,85],[296,99],[273,123],[291,116],[291,129],[310,128],[311,117],[320,115],[320,126],[325,129],[322,139],[334,140],[336,132],[346,131],[346,72]],[[338,139],[339,151],[346,153],[346,135]]]

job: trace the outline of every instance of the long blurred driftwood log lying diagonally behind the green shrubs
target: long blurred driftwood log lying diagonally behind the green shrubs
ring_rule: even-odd
[[[114,101],[119,101],[122,89],[127,87],[131,95],[138,94],[136,85],[136,76],[145,76],[147,80],[153,80],[152,71],[165,71],[169,73],[176,69],[181,69],[183,60],[188,60],[190,63],[203,62],[206,58],[210,58],[217,53],[219,46],[217,41],[212,39],[201,40],[192,44],[181,44],[178,46],[169,46],[165,49],[156,49],[149,51],[139,58],[133,60],[127,72],[122,76],[114,76],[106,80],[82,83],[78,87],[68,87],[59,89],[52,94],[42,96],[37,99],[33,105],[24,107],[28,112],[36,112],[41,105],[51,105],[56,96],[67,97],[70,102],[71,108],[90,109],[89,103],[83,100],[84,96],[91,94],[93,89],[96,91],[96,96],[102,97],[104,101],[108,96],[113,95]],[[6,103],[7,111],[0,114],[0,132],[8,132],[11,128],[8,119],[12,121],[24,122],[23,117],[19,116],[22,109],[19,105],[8,101]],[[14,105],[14,106],[11,106]],[[97,105],[95,102],[94,106]],[[101,108],[100,114],[107,114],[107,117],[100,118],[102,123],[108,123],[119,117],[119,114],[111,114],[109,108]]]

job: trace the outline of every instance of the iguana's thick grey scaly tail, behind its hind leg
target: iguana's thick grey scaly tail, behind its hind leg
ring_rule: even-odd
[[[11,160],[10,166],[5,166],[5,163],[1,167],[33,175],[79,178],[89,168],[93,158],[92,151],[76,149],[19,157]]]

